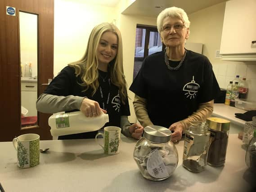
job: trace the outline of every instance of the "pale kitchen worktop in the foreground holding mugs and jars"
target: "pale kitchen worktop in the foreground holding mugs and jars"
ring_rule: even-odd
[[[184,141],[176,144],[179,163],[170,178],[144,179],[133,159],[136,140],[121,138],[117,155],[104,155],[94,139],[40,141],[40,164],[29,169],[17,166],[12,142],[0,142],[0,183],[6,192],[219,192],[243,191],[255,181],[245,164],[246,151],[237,134],[229,134],[225,166],[206,166],[192,173],[182,166]]]

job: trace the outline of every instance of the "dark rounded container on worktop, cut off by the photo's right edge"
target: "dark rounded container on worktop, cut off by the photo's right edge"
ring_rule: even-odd
[[[249,170],[256,172],[256,130],[254,130],[253,138],[251,139],[247,148],[245,163],[249,167]]]

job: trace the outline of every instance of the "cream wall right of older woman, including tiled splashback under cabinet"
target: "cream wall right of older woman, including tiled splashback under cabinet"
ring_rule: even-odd
[[[203,43],[203,54],[209,58],[220,88],[226,89],[236,75],[246,77],[248,100],[256,100],[256,62],[230,62],[215,57],[216,50],[220,50],[224,13],[225,2],[190,14],[188,42]]]

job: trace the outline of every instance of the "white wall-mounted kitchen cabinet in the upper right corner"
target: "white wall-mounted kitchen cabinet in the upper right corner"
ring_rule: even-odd
[[[256,60],[256,0],[226,2],[220,54]],[[238,55],[238,56],[236,56]],[[240,55],[240,56],[239,56]],[[246,59],[247,58],[247,59]],[[225,59],[224,59],[225,60]]]

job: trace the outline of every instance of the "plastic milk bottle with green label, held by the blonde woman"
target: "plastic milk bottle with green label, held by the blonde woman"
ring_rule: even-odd
[[[79,134],[96,131],[108,122],[108,114],[102,112],[100,116],[86,117],[81,111],[69,113],[55,113],[49,117],[53,137],[68,134]]]

